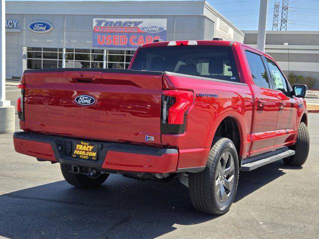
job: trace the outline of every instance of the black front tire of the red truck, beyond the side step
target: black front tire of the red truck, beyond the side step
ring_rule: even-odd
[[[310,137],[306,124],[301,122],[298,128],[298,136],[295,145],[290,148],[295,150],[296,153],[293,156],[284,158],[284,162],[290,166],[302,166],[309,154]]]

